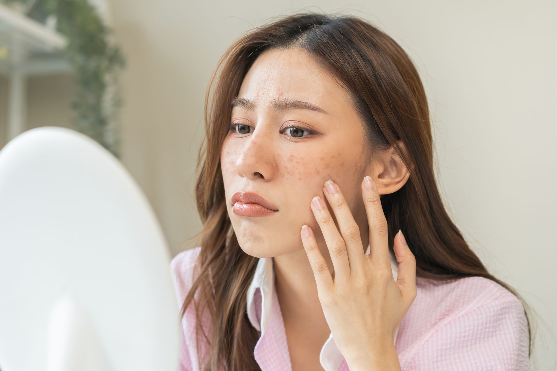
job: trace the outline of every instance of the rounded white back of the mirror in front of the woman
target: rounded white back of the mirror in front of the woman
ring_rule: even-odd
[[[51,126],[13,138],[0,151],[0,369],[176,370],[170,258],[104,147]]]

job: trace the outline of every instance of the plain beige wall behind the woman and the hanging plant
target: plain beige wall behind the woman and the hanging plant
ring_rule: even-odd
[[[541,315],[535,364],[539,370],[553,367],[557,125],[551,105],[557,55],[549,46],[557,3],[304,4],[295,9],[301,3],[111,3],[115,37],[129,62],[121,80],[123,162],[152,202],[173,254],[192,247],[180,244],[201,227],[193,175],[204,130],[203,98],[222,52],[262,18],[295,10],[358,14],[389,33],[416,62],[434,120],[446,205],[487,268]],[[30,87],[32,125],[66,122],[69,112],[60,102],[71,97],[68,81],[42,79]],[[48,90],[53,86],[59,96]],[[4,87],[0,79],[1,111]]]

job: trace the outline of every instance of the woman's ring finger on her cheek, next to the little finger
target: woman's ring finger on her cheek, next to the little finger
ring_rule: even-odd
[[[321,233],[325,238],[325,243],[329,249],[331,260],[335,269],[335,279],[348,279],[350,276],[350,264],[348,263],[348,254],[346,254],[346,246],[343,237],[336,228],[333,217],[329,213],[325,205],[325,201],[319,196],[315,196],[311,200],[311,210],[313,210],[315,219],[321,228]]]

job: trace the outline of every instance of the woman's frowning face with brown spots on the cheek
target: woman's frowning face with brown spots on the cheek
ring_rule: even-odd
[[[329,179],[339,185],[360,231],[367,231],[360,184],[374,175],[364,162],[363,122],[348,93],[305,51],[267,50],[247,72],[238,97],[243,100],[232,108],[231,122],[240,126],[224,140],[221,167],[242,250],[259,258],[302,250],[304,224],[318,243],[324,241],[310,202],[321,196],[327,204],[323,185]],[[323,112],[289,101],[309,102]],[[255,192],[277,211],[242,215],[242,202],[232,202],[238,191]]]

